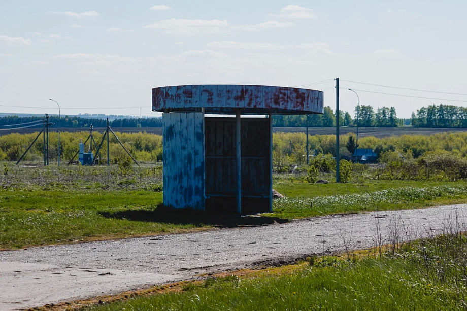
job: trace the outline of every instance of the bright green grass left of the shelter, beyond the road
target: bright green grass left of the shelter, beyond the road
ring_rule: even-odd
[[[196,224],[114,219],[131,210],[152,213],[162,193],[149,191],[0,191],[0,248],[180,232]]]

